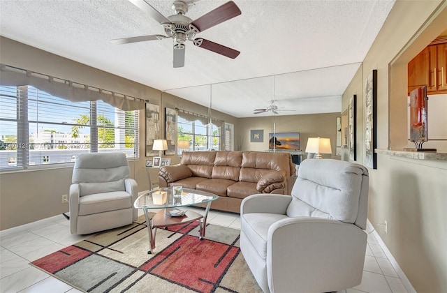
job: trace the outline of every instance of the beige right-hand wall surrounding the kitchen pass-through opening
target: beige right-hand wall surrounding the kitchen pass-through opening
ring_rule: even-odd
[[[365,78],[373,69],[378,70],[378,148],[406,147],[406,64],[447,28],[446,6],[446,1],[397,1],[362,68],[346,89],[343,109],[346,110],[353,94],[357,94],[360,106],[357,120],[360,163],[365,164],[362,143]],[[436,19],[432,21],[431,15]],[[445,292],[446,161],[383,154],[377,158],[377,169],[369,170],[369,220],[417,292]],[[378,225],[385,220],[388,234]]]

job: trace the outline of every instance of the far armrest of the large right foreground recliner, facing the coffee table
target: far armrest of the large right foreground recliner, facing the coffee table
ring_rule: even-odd
[[[240,215],[244,213],[279,213],[285,215],[291,195],[249,195],[240,204]]]

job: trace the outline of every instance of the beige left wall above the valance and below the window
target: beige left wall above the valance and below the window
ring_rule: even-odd
[[[126,80],[117,75],[38,50],[34,47],[0,37],[0,62],[73,80],[92,87],[108,89],[117,93],[150,100],[150,103],[164,107],[180,108],[207,114],[207,107],[171,96],[145,85]],[[1,73],[0,73],[1,74]],[[149,188],[145,168],[145,111],[140,111],[140,159],[130,161],[131,177],[138,182],[138,191]],[[212,117],[237,123],[235,117],[212,111]],[[161,136],[164,137],[164,115],[161,115]],[[171,163],[177,163],[177,156]],[[61,202],[61,196],[68,193],[73,167],[48,170],[8,172],[0,174],[0,230],[55,216],[68,211],[68,203]],[[150,170],[152,182],[158,182],[157,170]]]

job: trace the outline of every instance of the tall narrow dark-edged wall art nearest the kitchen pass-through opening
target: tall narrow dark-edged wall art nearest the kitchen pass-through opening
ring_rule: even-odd
[[[365,81],[365,149],[366,166],[377,169],[377,70],[372,70]]]

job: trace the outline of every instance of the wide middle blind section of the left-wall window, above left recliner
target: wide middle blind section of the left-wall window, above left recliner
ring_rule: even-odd
[[[90,102],[72,103],[35,87],[27,89],[27,165],[70,163],[79,153],[88,153]]]

